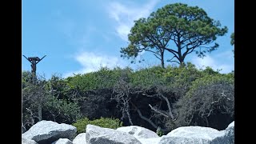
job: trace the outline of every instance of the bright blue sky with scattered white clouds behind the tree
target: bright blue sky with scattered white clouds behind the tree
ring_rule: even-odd
[[[37,65],[37,73],[46,78],[52,74],[66,78],[101,66],[138,69],[158,65],[160,61],[147,53],[142,54],[144,62],[131,64],[120,57],[120,48],[127,46],[134,20],[147,18],[151,12],[175,2],[201,7],[229,29],[225,36],[217,38],[218,50],[205,58],[190,54],[185,61],[198,68],[222,69],[221,73],[234,70],[234,46],[230,46],[234,0],[23,0],[22,54],[39,58],[46,55]],[[30,70],[30,62],[23,57],[22,70]]]

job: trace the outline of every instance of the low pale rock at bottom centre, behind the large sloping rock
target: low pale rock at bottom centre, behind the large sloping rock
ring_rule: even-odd
[[[152,130],[148,130],[141,126],[123,126],[117,130],[133,135],[135,138],[159,138]]]

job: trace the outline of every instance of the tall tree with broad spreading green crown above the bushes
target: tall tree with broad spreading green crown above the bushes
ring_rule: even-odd
[[[166,5],[150,14],[150,17],[135,21],[128,35],[130,43],[121,48],[121,57],[136,58],[140,52],[148,51],[161,60],[164,67],[167,50],[173,55],[167,61],[182,64],[190,53],[195,52],[198,57],[204,57],[207,51],[216,50],[218,43],[209,45],[217,36],[227,32],[226,26],[220,26],[220,22],[208,17],[198,6],[182,3]]]

